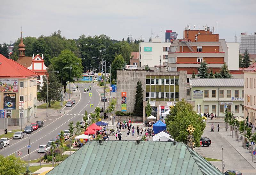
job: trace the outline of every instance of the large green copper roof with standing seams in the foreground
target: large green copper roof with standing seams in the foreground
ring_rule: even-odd
[[[89,141],[47,175],[223,175],[182,142]]]

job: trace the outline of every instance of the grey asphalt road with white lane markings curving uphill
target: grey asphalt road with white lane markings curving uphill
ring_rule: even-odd
[[[100,103],[100,94],[96,88],[93,86],[95,84],[91,83],[74,83],[74,86],[78,85],[79,90],[77,92],[72,93],[72,99],[76,100],[76,104],[73,107],[66,108],[64,107],[65,114],[62,115],[60,113],[55,112],[51,116],[45,118],[44,126],[39,128],[37,131],[34,131],[31,134],[28,134],[30,137],[30,160],[40,158],[40,154],[37,153],[37,148],[39,145],[46,144],[53,138],[58,136],[61,130],[68,129],[69,122],[73,121],[74,124],[77,121],[81,121],[84,116],[84,110],[87,110],[89,113],[91,111],[90,108],[90,100],[91,104],[93,104],[92,111],[95,107],[99,106]],[[88,93],[84,93],[84,87],[89,88],[92,86],[92,90],[89,90],[89,93],[92,93],[92,97],[89,97]],[[71,84],[72,86],[72,84]],[[100,90],[100,89],[98,89]],[[107,106],[107,102],[106,102]],[[21,152],[21,155],[18,155],[18,152]],[[23,160],[28,160],[28,136],[24,134],[24,138],[18,140],[10,140],[10,145],[4,147],[4,149],[0,150],[0,154],[3,156],[9,156],[14,154],[15,156],[20,157]]]

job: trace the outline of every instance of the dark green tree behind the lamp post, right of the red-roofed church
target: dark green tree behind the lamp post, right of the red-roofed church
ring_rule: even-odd
[[[60,80],[57,78],[57,72],[54,71],[53,65],[49,65],[47,69],[48,76],[48,106],[51,107],[55,101],[60,101],[61,98],[61,89],[60,89]],[[50,72],[50,73],[49,73]],[[47,81],[46,76],[43,76],[44,86],[40,91],[40,101],[46,102],[47,99]]]

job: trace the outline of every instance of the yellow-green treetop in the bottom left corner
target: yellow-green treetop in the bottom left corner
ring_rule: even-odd
[[[25,161],[14,155],[4,157],[0,155],[0,174],[24,174],[26,172]]]

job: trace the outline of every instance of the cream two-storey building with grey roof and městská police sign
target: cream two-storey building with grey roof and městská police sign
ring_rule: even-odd
[[[225,108],[244,117],[244,79],[190,79],[191,100],[197,113],[225,117]],[[199,111],[198,111],[199,104]]]

